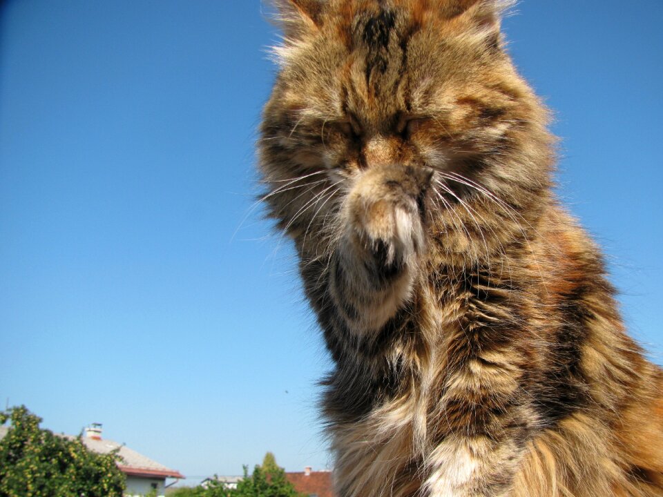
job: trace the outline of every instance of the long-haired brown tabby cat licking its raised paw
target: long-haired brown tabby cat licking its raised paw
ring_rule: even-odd
[[[663,496],[663,376],[551,191],[498,0],[280,0],[260,171],[340,497]]]

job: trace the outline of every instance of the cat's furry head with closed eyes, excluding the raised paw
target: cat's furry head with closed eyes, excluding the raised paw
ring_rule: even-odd
[[[358,179],[394,165],[432,171],[421,208],[436,213],[427,233],[445,251],[465,251],[472,240],[461,239],[481,220],[490,237],[526,217],[545,195],[546,110],[504,50],[508,2],[277,5],[284,41],[274,49],[280,71],[260,168],[271,215],[300,243],[309,233],[318,244],[336,240]]]

